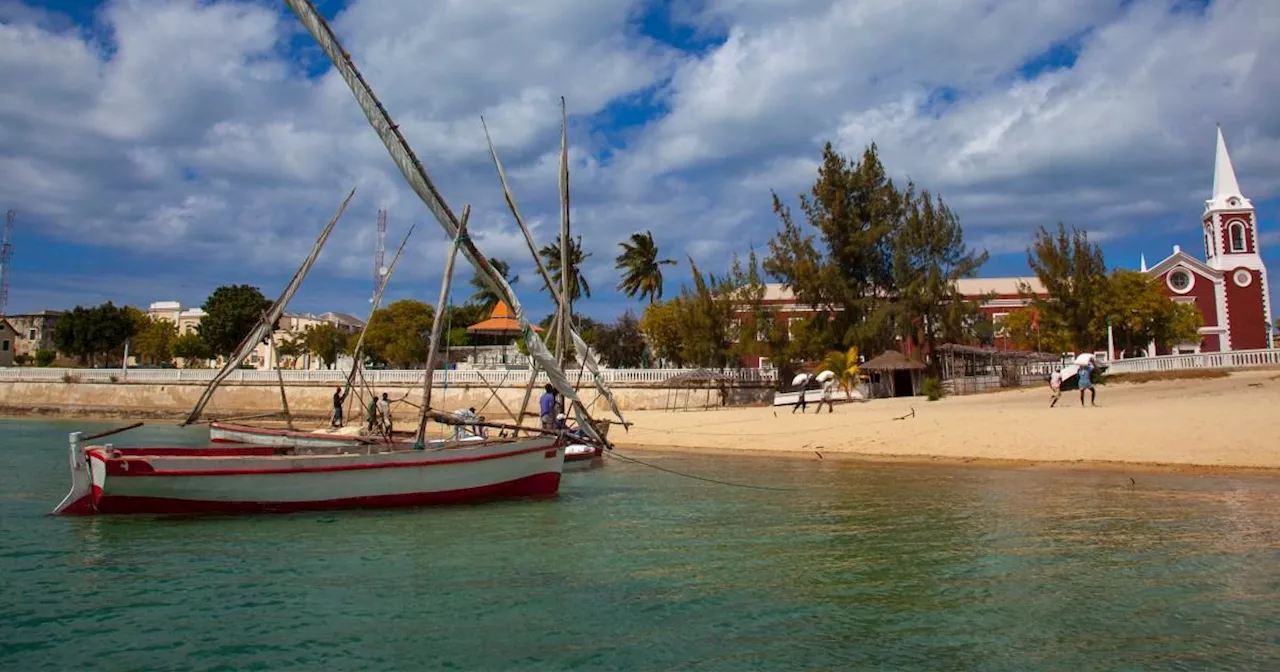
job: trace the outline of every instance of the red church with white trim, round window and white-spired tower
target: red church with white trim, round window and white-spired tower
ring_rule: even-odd
[[[1240,193],[1231,156],[1217,131],[1213,196],[1204,201],[1201,224],[1204,260],[1174,246],[1174,253],[1143,271],[1162,280],[1165,294],[1194,303],[1204,317],[1196,343],[1153,343],[1158,355],[1226,352],[1271,344],[1271,289],[1258,248],[1257,212]]]

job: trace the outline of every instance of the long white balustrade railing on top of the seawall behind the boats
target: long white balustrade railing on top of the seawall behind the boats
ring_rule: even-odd
[[[600,378],[609,387],[649,387],[659,385],[671,376],[690,371],[689,369],[603,369]],[[67,381],[67,383],[209,383],[212,369],[42,369],[35,366],[0,369],[4,381]],[[529,380],[527,369],[458,369],[434,371],[435,385],[493,385],[524,387]],[[581,380],[584,387],[591,384],[591,372],[571,369],[564,371],[571,383]],[[737,384],[772,385],[777,380],[773,369],[727,369],[719,371]],[[347,379],[347,371],[333,370],[280,370],[285,384],[333,384],[340,385]],[[421,385],[422,371],[415,370],[366,370],[365,380],[370,385]],[[547,374],[538,374],[538,384],[549,383]],[[241,369],[232,371],[224,384],[271,384],[276,383],[274,370]]]

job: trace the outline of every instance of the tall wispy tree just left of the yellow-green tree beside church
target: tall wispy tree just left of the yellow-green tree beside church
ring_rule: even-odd
[[[1027,250],[1027,262],[1044,285],[1047,300],[1036,300],[1041,321],[1041,337],[1046,324],[1056,333],[1057,329],[1069,339],[1069,347],[1075,352],[1097,349],[1103,324],[1100,316],[1106,301],[1107,270],[1102,259],[1102,248],[1089,243],[1089,234],[1075,229],[1068,233],[1066,225],[1059,223],[1057,232],[1050,233],[1039,228],[1036,241]],[[1023,288],[1030,293],[1029,288]]]

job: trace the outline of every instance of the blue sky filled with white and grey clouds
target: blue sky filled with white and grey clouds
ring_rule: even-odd
[[[1215,124],[1280,260],[1280,3],[1271,0],[320,0],[472,238],[549,310],[481,115],[539,244],[558,232],[559,97],[571,219],[593,297],[652,230],[667,296],[778,228],[824,142],[874,142],[957,211],[982,275],[1028,274],[1036,229],[1089,232],[1111,266],[1202,255]],[[1267,55],[1271,56],[1267,56]],[[356,196],[291,310],[364,316],[376,211],[387,298],[439,293],[448,242],[283,3],[0,0],[0,210],[9,312],[276,296]],[[470,293],[460,264],[454,300]],[[1275,280],[1272,280],[1275,283]]]

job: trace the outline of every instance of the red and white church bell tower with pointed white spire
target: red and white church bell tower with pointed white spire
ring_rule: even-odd
[[[1221,273],[1219,300],[1225,305],[1228,343],[1222,349],[1270,347],[1271,291],[1258,248],[1258,219],[1240,193],[1231,156],[1217,129],[1213,197],[1204,201],[1204,261]]]

